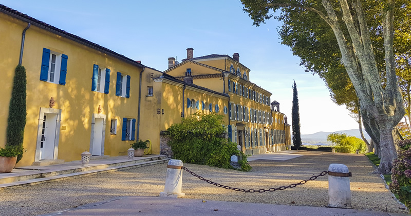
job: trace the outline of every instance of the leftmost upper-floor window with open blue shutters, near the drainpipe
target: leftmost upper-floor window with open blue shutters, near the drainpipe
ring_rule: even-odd
[[[43,48],[40,80],[66,85],[68,56]]]

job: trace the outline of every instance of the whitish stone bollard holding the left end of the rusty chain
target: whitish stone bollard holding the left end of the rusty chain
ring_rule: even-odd
[[[160,197],[181,198],[184,193],[181,192],[183,179],[183,162],[180,160],[170,160],[167,165],[167,173],[165,175],[164,191],[160,192]]]

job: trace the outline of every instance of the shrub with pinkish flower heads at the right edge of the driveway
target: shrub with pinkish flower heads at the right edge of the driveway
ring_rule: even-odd
[[[399,141],[398,146],[398,158],[393,163],[389,189],[398,194],[399,200],[411,212],[411,140]]]

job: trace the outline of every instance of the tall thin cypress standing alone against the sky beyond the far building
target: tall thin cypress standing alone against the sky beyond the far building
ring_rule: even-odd
[[[298,150],[301,146],[301,132],[300,132],[300,111],[298,107],[298,93],[297,93],[297,85],[295,84],[292,87],[292,112],[291,112],[291,119],[292,119],[292,143],[294,147]]]

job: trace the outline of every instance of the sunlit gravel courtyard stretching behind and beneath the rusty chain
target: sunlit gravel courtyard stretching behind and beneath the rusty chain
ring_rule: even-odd
[[[365,155],[300,151],[303,156],[287,161],[250,162],[250,172],[184,164],[189,170],[216,183],[244,189],[269,189],[309,179],[332,163],[348,166],[352,172],[351,192],[354,209],[407,213],[385,188]],[[164,190],[166,165],[83,176],[0,190],[1,215],[37,215],[105,201],[123,196],[158,196]],[[183,199],[202,199],[246,203],[267,203],[326,207],[328,175],[295,188],[265,193],[227,190],[200,181],[183,171]]]

